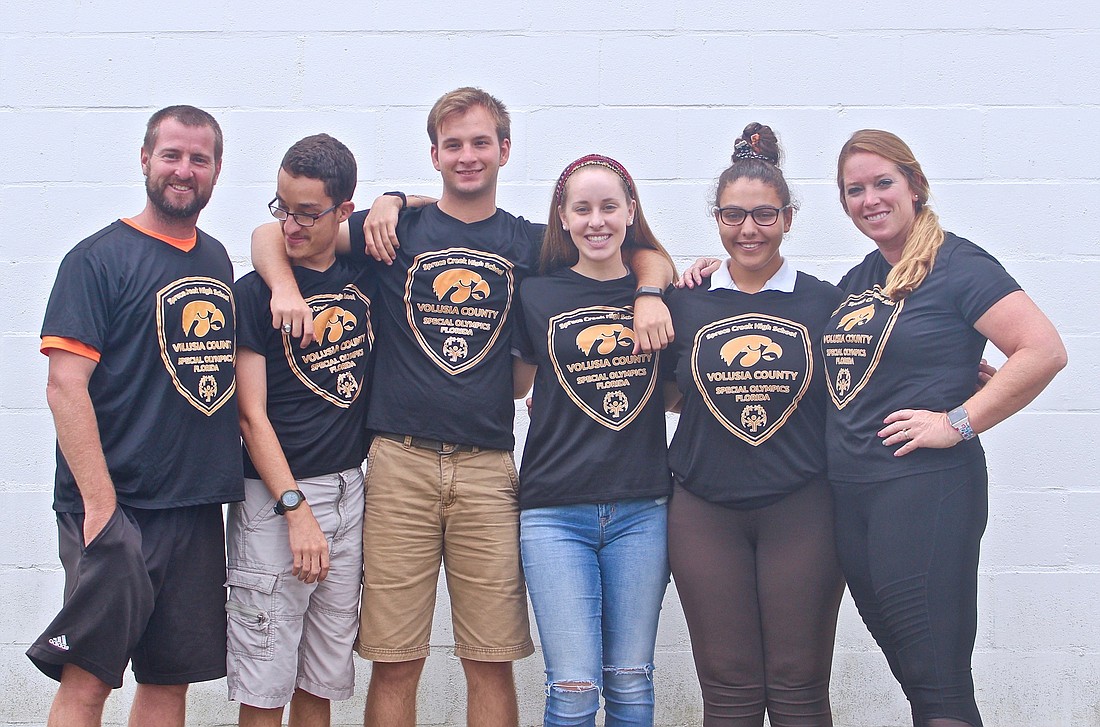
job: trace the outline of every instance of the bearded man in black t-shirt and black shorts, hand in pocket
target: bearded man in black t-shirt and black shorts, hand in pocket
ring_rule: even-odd
[[[145,209],[62,262],[42,327],[65,602],[28,650],[52,727],[99,725],[132,662],[132,725],[185,720],[226,674],[222,503],[241,499],[232,265],[195,225],[221,170],[206,111],[153,114]]]

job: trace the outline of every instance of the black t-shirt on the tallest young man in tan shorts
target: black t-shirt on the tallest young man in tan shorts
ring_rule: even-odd
[[[353,257],[366,257],[352,214]],[[378,334],[367,427],[510,450],[513,297],[538,267],[544,225],[504,210],[465,223],[406,209],[393,265],[378,265]]]

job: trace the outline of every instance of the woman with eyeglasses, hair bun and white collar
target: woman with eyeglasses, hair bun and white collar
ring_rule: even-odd
[[[820,346],[836,287],[780,252],[794,203],[776,134],[751,123],[718,177],[728,260],[676,289],[672,364],[682,412],[669,450],[669,558],[706,726],[832,725],[844,581],[826,481]]]

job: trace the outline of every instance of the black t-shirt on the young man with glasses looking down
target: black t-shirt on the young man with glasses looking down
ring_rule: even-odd
[[[256,273],[237,282],[238,344],[267,363],[267,419],[296,480],[358,467],[366,458],[367,385],[374,346],[372,268],[337,260],[327,271],[296,266],[314,310],[307,348],[271,324],[271,288]],[[260,478],[244,451],[244,474]]]

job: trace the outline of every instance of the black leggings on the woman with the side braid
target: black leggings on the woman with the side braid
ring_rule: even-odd
[[[901,683],[915,727],[981,726],[970,657],[986,461],[872,484],[834,484],[848,590]]]

